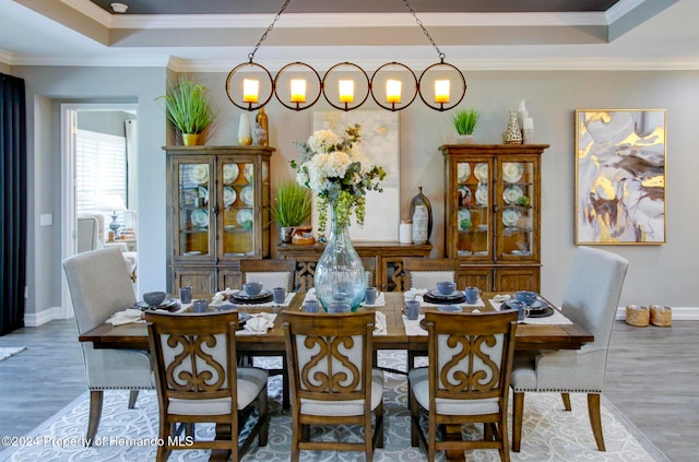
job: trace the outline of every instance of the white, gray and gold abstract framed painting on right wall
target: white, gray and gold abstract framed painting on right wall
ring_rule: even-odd
[[[665,244],[665,109],[576,110],[576,244]]]

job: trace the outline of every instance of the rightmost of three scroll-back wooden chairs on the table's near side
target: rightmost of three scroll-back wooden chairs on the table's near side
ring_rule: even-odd
[[[427,460],[437,451],[497,449],[510,460],[507,403],[517,331],[517,311],[453,313],[428,311],[429,365],[408,374],[411,443],[422,441]],[[420,413],[427,414],[427,433]],[[461,425],[483,423],[482,440],[463,440]],[[458,438],[437,439],[439,426],[459,426]]]

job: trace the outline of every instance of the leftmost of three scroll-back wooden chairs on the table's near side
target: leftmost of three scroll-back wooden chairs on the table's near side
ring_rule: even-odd
[[[238,312],[169,313],[147,311],[149,344],[157,384],[158,438],[156,460],[175,449],[226,449],[238,461],[258,437],[268,441],[266,379],[263,369],[237,367]],[[238,431],[257,408],[257,422],[238,447]],[[215,423],[230,426],[229,438],[178,440],[177,424]],[[193,436],[193,435],[192,435]]]

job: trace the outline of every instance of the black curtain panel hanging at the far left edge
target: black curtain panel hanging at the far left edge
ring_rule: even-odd
[[[0,73],[0,335],[24,327],[26,103],[24,80]]]

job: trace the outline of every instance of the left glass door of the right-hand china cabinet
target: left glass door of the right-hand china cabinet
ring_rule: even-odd
[[[483,257],[491,252],[491,178],[488,162],[463,161],[457,164],[459,257]]]

